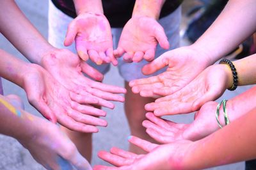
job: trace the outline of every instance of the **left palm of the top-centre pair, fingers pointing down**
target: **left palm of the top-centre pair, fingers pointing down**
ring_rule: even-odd
[[[64,45],[71,45],[76,40],[78,56],[86,61],[89,57],[97,65],[112,62],[113,56],[111,27],[103,14],[81,13],[68,26]]]

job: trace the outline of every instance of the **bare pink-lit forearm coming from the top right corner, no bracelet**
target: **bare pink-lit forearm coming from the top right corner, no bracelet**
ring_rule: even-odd
[[[234,50],[256,30],[256,3],[253,0],[228,1],[223,12],[194,44],[211,56],[212,63]]]

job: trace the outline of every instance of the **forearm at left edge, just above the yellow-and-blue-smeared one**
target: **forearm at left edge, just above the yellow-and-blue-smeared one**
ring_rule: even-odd
[[[28,63],[14,58],[11,54],[0,49],[0,77],[22,87],[24,76],[29,69]]]

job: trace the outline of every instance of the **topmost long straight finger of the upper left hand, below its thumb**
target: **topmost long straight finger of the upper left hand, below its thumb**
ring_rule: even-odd
[[[90,85],[92,88],[100,89],[109,93],[126,93],[125,88],[104,84],[102,82],[92,82]]]

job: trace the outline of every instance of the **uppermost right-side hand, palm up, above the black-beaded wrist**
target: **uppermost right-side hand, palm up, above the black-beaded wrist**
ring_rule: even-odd
[[[209,57],[193,46],[180,47],[179,49],[165,52],[159,58],[143,67],[145,75],[168,66],[166,72],[146,79],[131,81],[134,93],[140,93],[142,97],[163,97],[178,91],[201,73],[213,62]]]

